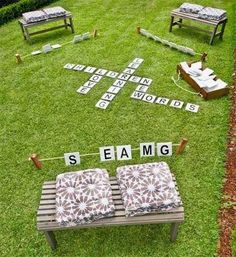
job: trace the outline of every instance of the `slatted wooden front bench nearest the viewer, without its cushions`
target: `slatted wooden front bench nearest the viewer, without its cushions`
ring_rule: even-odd
[[[180,223],[184,221],[183,206],[174,208],[170,211],[146,214],[143,216],[126,217],[121,200],[121,194],[115,177],[110,178],[112,187],[112,197],[115,204],[115,216],[100,219],[90,224],[78,225],[76,227],[61,227],[55,220],[55,197],[56,182],[48,181],[43,184],[40,205],[37,212],[37,229],[44,232],[46,239],[52,250],[56,249],[57,241],[53,231],[66,229],[81,229],[89,227],[103,227],[111,225],[139,225],[139,224],[157,224],[171,223],[171,240],[174,241],[177,236],[177,230]],[[177,185],[176,185],[176,189]]]

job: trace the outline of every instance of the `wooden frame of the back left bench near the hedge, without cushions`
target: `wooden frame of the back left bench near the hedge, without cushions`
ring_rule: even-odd
[[[68,19],[68,21],[67,21]],[[61,21],[63,20],[63,25],[58,25],[58,26],[54,26],[48,29],[43,29],[43,30],[39,30],[39,31],[35,31],[35,32],[29,32],[29,28],[32,27],[36,27],[36,26],[40,26],[40,25],[44,25],[50,22],[56,22],[56,21]],[[43,21],[38,21],[38,22],[30,22],[30,23],[26,23],[24,21],[24,19],[19,19],[18,20],[19,25],[21,27],[24,39],[27,40],[28,42],[31,42],[31,38],[30,36],[32,35],[37,35],[37,34],[41,34],[44,32],[48,32],[51,30],[55,30],[55,29],[60,29],[60,28],[65,28],[67,29],[68,27],[71,28],[71,32],[74,33],[74,25],[73,25],[73,19],[72,19],[72,14],[70,12],[67,12],[64,16],[60,16],[60,17],[56,17],[56,18],[50,18],[47,20],[43,20]]]

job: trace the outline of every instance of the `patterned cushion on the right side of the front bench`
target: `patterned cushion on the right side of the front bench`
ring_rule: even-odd
[[[165,162],[118,167],[117,181],[126,216],[166,211],[181,204]]]

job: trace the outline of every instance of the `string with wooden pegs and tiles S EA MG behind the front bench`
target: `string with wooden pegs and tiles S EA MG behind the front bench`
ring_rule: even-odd
[[[132,148],[131,145],[118,145],[118,146],[102,146],[99,147],[99,151],[96,153],[86,153],[81,154],[80,152],[70,152],[64,153],[64,156],[59,157],[51,157],[51,158],[43,158],[39,159],[37,154],[32,154],[29,160],[31,160],[35,167],[38,169],[42,169],[42,162],[44,161],[53,161],[64,159],[65,165],[79,165],[81,163],[81,157],[86,156],[100,156],[101,162],[106,161],[125,161],[132,160],[132,151],[140,151],[140,157],[154,157],[154,156],[172,156],[173,154],[173,146],[177,146],[176,154],[183,153],[188,140],[183,138],[179,144],[173,144],[172,142],[148,142],[148,143],[140,143],[138,148]]]

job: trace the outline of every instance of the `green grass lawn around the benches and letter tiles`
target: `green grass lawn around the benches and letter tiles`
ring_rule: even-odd
[[[95,40],[29,57],[15,63],[15,53],[26,55],[47,43],[72,40],[70,31],[58,30],[35,36],[27,44],[17,20],[0,27],[0,253],[1,256],[78,257],[209,257],[216,254],[219,238],[217,216],[224,176],[229,96],[205,101],[177,88],[171,81],[176,65],[194,60],[136,34],[140,25],[154,34],[208,52],[207,65],[229,84],[233,67],[233,1],[214,1],[228,11],[224,41],[209,46],[209,37],[190,30],[168,32],[169,13],[182,1],[64,0],[54,3],[74,14],[76,33],[99,30]],[[210,0],[198,3],[212,5]],[[112,85],[103,79],[88,95],[76,93],[89,74],[63,69],[78,63],[122,71],[135,57],[144,58],[137,70],[153,79],[149,93],[200,105],[197,114],[130,99],[135,85],[129,83],[107,110],[96,102]],[[198,57],[197,57],[198,58]],[[181,86],[190,89],[185,82]],[[45,162],[36,170],[27,161],[31,153],[40,157],[63,156],[65,152],[97,152],[104,145],[142,142],[178,143],[189,139],[181,155],[100,163],[99,157],[82,158],[80,166],[66,167],[63,160]],[[185,222],[177,241],[169,241],[169,225],[109,227],[56,232],[59,247],[54,253],[36,230],[36,210],[41,186],[65,171],[166,161],[174,172],[185,205]],[[234,237],[235,238],[235,237]]]

